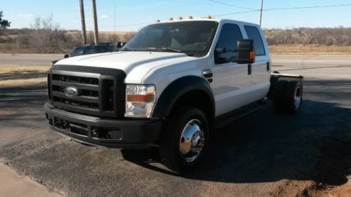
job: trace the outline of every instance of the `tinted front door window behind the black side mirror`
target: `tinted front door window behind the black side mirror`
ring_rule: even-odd
[[[216,48],[224,50],[236,50],[238,40],[242,39],[238,25],[227,23],[222,26]],[[215,53],[215,63],[224,64],[237,58],[237,52]]]

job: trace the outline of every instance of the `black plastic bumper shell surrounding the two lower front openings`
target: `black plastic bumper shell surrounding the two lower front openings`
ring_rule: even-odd
[[[46,118],[53,130],[85,144],[110,148],[147,148],[157,146],[163,122],[160,119],[111,119],[75,114],[56,109],[49,102],[44,105]],[[54,118],[77,125],[86,125],[87,135],[79,135],[55,126]],[[92,136],[91,128],[114,128],[121,132],[118,139],[102,139]]]

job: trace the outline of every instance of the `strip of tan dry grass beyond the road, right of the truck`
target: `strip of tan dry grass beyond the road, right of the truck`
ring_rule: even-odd
[[[272,54],[336,54],[350,55],[351,46],[317,46],[317,45],[273,45],[270,46]]]

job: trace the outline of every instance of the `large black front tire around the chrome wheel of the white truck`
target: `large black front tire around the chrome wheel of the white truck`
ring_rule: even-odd
[[[185,158],[186,156],[180,153],[180,136],[185,126],[189,126],[189,123],[194,120],[197,120],[195,121],[196,124],[201,125],[199,128],[202,130],[203,138],[200,138],[204,139],[204,146],[201,148],[199,155],[197,155],[194,161],[187,161]],[[166,123],[166,130],[161,134],[161,141],[159,144],[161,162],[164,163],[167,168],[176,172],[187,172],[194,169],[206,153],[209,132],[208,121],[203,111],[194,107],[177,107]],[[200,141],[202,142],[202,140]],[[196,140],[198,143],[201,143],[200,141]],[[184,147],[184,145],[182,147]],[[192,151],[190,151],[189,154],[190,153],[192,153]]]

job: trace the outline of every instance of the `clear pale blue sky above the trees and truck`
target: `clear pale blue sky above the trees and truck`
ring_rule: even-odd
[[[100,31],[137,31],[155,20],[192,15],[259,23],[261,0],[96,0]],[[263,28],[351,27],[351,0],[264,0],[263,8],[350,4],[328,8],[263,11]],[[84,0],[86,27],[93,29],[91,0]],[[35,18],[48,18],[62,29],[81,29],[79,0],[0,0],[3,19],[11,28],[30,27]],[[249,11],[249,12],[248,12]],[[244,13],[247,12],[247,13]],[[228,15],[226,15],[228,14]]]

